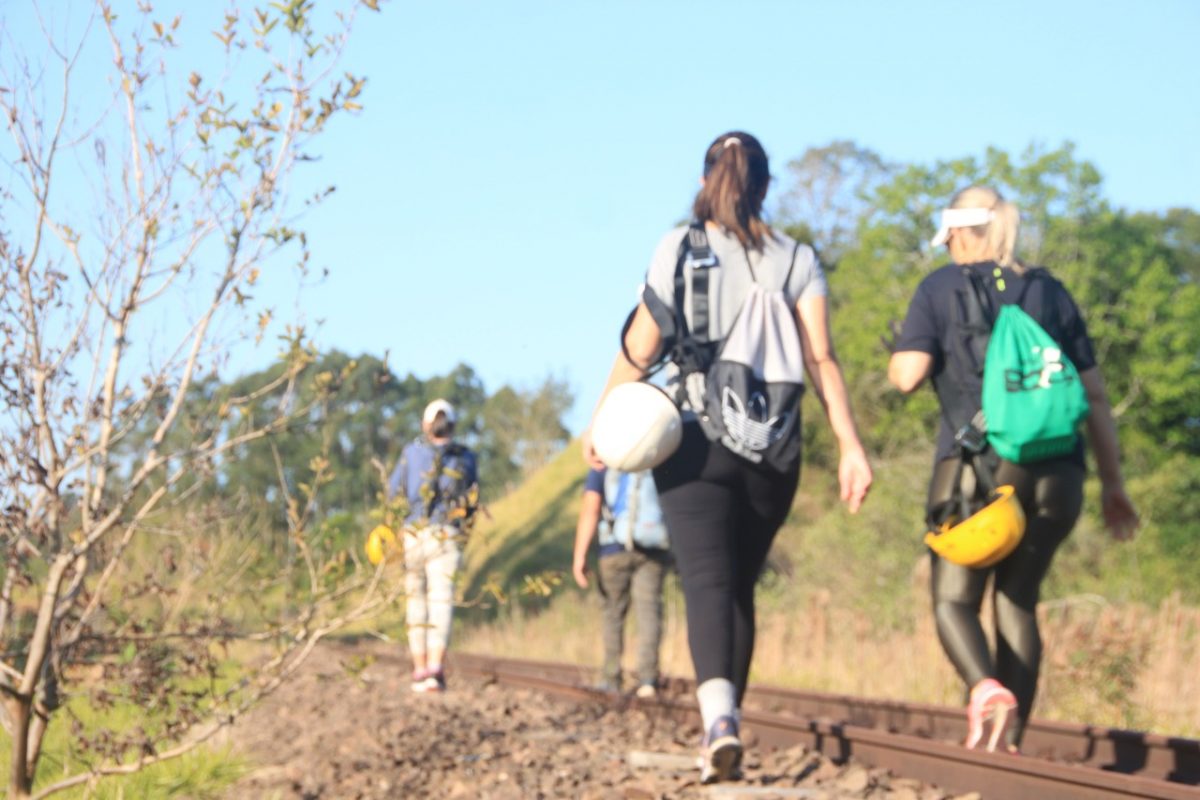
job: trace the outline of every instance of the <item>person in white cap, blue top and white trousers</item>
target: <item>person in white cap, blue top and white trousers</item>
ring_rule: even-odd
[[[454,440],[457,414],[438,398],[421,414],[421,432],[401,452],[388,482],[403,497],[404,593],[414,692],[445,690],[443,663],[454,618],[454,581],[463,531],[479,506],[475,453]]]

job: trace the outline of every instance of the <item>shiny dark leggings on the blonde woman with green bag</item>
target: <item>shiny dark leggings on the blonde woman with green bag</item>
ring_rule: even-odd
[[[950,497],[955,471],[955,459],[940,462],[934,468],[930,507]],[[1042,663],[1038,594],[1055,551],[1079,518],[1084,469],[1067,459],[1036,464],[1002,461],[995,479],[1000,486],[1015,487],[1025,510],[1025,536],[1012,555],[989,570],[959,566],[935,554],[934,618],[942,646],[968,688],[985,678],[995,678],[1016,696],[1018,718],[1008,729],[1007,740],[1018,746],[1033,709]],[[995,573],[995,663],[979,621],[989,573]]]

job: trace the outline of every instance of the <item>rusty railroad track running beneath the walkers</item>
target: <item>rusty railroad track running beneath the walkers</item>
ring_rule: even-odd
[[[576,664],[454,654],[451,667],[557,697],[607,697],[589,688],[594,670]],[[671,679],[655,700],[620,702],[698,720],[694,690],[691,681]],[[986,753],[956,744],[966,735],[961,709],[770,686],[750,687],[743,723],[760,746],[803,744],[838,762],[853,758],[949,792],[982,792],[986,800],[1200,798],[1200,741],[1192,739],[1034,720],[1025,754]]]

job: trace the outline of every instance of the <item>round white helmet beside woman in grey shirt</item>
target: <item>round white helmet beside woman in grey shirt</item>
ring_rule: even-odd
[[[613,386],[592,421],[596,456],[625,473],[658,467],[680,439],[679,409],[661,389],[642,381]]]

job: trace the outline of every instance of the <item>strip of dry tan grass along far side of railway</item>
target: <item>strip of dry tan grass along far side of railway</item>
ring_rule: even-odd
[[[918,602],[912,606],[911,631],[881,630],[868,614],[835,607],[827,591],[811,593],[806,602],[790,609],[764,610],[751,679],[847,694],[961,703],[962,685],[926,613],[923,579],[920,575],[914,578]],[[518,608],[493,625],[464,631],[457,646],[599,664],[595,595],[570,591],[538,614]],[[1039,616],[1045,652],[1038,717],[1200,736],[1200,609],[1183,606],[1177,597],[1158,608],[1079,597],[1044,603]],[[626,646],[626,667],[632,666],[630,650]],[[662,669],[691,674],[683,603],[673,583],[667,590]]]

